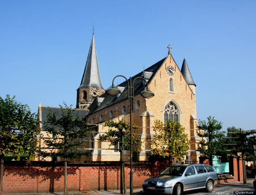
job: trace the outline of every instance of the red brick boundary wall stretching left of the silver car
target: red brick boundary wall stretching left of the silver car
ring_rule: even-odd
[[[19,164],[18,164],[19,163]],[[22,164],[21,164],[22,163]],[[133,187],[142,188],[143,181],[158,175],[167,161],[133,164]],[[129,188],[130,167],[125,165]],[[120,189],[120,165],[116,162],[68,165],[68,191]],[[7,162],[4,165],[3,193],[41,193],[64,191],[64,166],[52,162]]]

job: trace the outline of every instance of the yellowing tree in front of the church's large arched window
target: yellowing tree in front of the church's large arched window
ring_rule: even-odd
[[[172,158],[183,160],[189,150],[190,141],[184,133],[185,128],[180,122],[168,120],[164,125],[161,121],[154,122],[154,136],[151,139],[151,153],[169,158],[169,166],[172,166]]]

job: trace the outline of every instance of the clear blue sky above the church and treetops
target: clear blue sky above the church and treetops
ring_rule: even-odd
[[[37,112],[76,104],[93,24],[104,88],[167,56],[186,58],[197,118],[256,129],[256,1],[0,1],[0,96]],[[122,78],[118,83],[121,83]]]

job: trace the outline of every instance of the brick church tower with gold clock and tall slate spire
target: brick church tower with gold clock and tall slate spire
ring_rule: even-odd
[[[99,73],[99,64],[93,33],[93,39],[91,40],[82,81],[77,89],[76,108],[87,109],[93,100],[99,95],[102,95],[102,93],[105,93],[105,89],[101,83],[101,74]]]

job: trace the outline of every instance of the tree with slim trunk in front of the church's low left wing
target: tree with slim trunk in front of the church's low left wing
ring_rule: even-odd
[[[44,130],[48,137],[42,138],[45,147],[39,153],[42,157],[64,158],[64,194],[67,195],[67,159],[90,156],[91,151],[79,149],[83,145],[80,139],[87,136],[85,119],[74,113],[76,109],[68,107],[66,103],[64,106],[60,105],[61,116],[51,111],[47,114]]]

